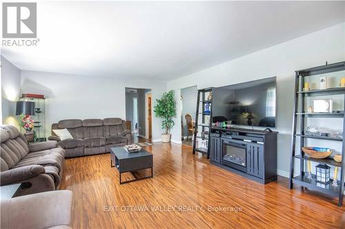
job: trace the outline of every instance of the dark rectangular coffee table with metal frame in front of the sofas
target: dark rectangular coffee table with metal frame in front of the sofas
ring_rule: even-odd
[[[125,184],[128,182],[135,182],[140,179],[146,179],[153,177],[153,155],[148,153],[145,149],[141,149],[138,153],[128,153],[124,147],[113,147],[110,149],[110,166],[116,167],[119,171],[119,182],[120,184]],[[146,177],[137,177],[135,171],[142,169],[151,168],[151,175]],[[122,173],[132,173],[135,179],[122,182],[121,174]]]

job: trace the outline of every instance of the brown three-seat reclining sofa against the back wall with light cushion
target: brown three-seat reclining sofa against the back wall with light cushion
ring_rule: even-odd
[[[49,140],[57,140],[66,150],[66,158],[109,153],[111,147],[125,146],[132,142],[132,135],[126,130],[126,121],[121,118],[69,119],[52,124],[53,129],[68,129],[72,140],[61,141],[54,131]]]

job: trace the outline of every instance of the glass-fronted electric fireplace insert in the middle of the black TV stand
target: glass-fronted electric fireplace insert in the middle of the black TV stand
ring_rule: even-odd
[[[247,171],[247,145],[245,142],[221,138],[221,149],[221,164],[239,171]]]

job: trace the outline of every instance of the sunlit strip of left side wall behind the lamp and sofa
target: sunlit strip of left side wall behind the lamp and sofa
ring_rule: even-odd
[[[21,96],[21,70],[1,56],[1,115],[3,124],[19,128],[15,116],[16,101]]]

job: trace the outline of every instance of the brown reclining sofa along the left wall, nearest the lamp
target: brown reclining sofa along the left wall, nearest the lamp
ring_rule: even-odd
[[[65,150],[55,141],[28,145],[16,127],[0,126],[0,184],[23,183],[20,195],[59,188]]]

